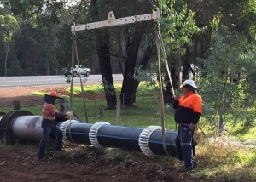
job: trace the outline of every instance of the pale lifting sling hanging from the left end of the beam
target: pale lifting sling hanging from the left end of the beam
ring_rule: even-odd
[[[77,64],[79,65],[79,54],[78,54],[78,48],[77,48],[77,43],[76,43],[76,34],[75,32],[72,32],[73,34],[73,43],[72,43],[72,68],[74,65],[74,56],[77,58]],[[87,108],[85,104],[85,96],[84,96],[84,86],[83,86],[83,81],[81,78],[81,74],[79,72],[79,79],[80,79],[80,85],[81,85],[81,92],[83,96],[83,103],[84,103],[84,115],[85,115],[85,121],[88,123],[88,114],[87,114]],[[72,74],[72,79],[71,79],[71,86],[70,86],[70,109],[72,111],[72,103],[73,103],[73,74]]]

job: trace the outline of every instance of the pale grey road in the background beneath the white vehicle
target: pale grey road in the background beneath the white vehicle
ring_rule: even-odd
[[[81,76],[82,81],[84,76]],[[8,87],[30,87],[38,85],[63,85],[67,84],[67,77],[62,75],[55,76],[20,76],[20,77],[0,77],[0,88]],[[122,74],[113,74],[113,82],[123,81]],[[102,83],[102,75],[90,75],[86,77],[85,83]],[[73,77],[73,84],[80,84],[79,77]]]

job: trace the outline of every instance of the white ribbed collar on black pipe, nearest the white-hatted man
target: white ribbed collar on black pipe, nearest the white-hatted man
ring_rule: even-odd
[[[144,128],[141,132],[138,143],[140,149],[143,151],[143,154],[146,156],[155,156],[154,153],[149,148],[149,138],[150,135],[156,130],[161,129],[159,126],[149,126],[147,128]]]

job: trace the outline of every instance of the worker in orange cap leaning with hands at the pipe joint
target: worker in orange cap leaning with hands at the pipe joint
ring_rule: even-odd
[[[38,148],[38,159],[44,159],[45,144],[49,139],[50,134],[55,136],[55,151],[63,151],[61,149],[63,133],[60,128],[56,127],[55,117],[72,117],[73,112],[68,111],[67,113],[61,113],[55,109],[55,100],[59,98],[55,91],[52,91],[44,95],[44,108],[42,111],[42,124],[43,128],[42,138]]]

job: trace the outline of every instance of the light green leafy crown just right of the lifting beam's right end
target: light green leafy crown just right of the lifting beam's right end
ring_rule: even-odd
[[[165,47],[168,48],[167,54],[177,51],[177,48],[183,48],[184,45],[192,45],[191,36],[204,30],[196,26],[195,13],[189,10],[183,1],[160,1],[159,6],[163,16],[160,25]],[[181,54],[184,54],[184,49]]]

